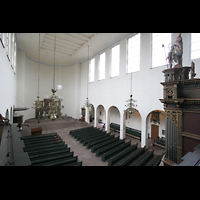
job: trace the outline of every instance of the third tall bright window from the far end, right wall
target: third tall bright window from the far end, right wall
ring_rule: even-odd
[[[111,49],[110,77],[119,76],[119,44]]]

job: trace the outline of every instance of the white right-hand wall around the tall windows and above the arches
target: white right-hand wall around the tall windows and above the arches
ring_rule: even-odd
[[[190,66],[190,34],[183,33],[183,66]],[[172,34],[172,43],[176,40],[176,33]],[[117,43],[116,43],[117,44]],[[118,77],[110,78],[110,53],[111,47],[105,50],[106,52],[106,74],[104,80],[98,80],[98,61],[99,55],[95,55],[95,81],[88,84],[89,100],[96,108],[99,104],[103,105],[106,111],[111,106],[116,106],[123,116],[123,112],[126,109],[126,100],[130,96],[130,80],[131,75],[126,73],[127,67],[127,38],[122,39],[120,42],[120,75]],[[103,53],[103,52],[101,52]],[[167,54],[168,52],[166,52]],[[164,54],[164,50],[163,50]],[[92,57],[90,58],[92,59]],[[194,60],[196,64],[196,78],[200,74],[200,59]],[[86,99],[87,91],[87,67],[88,62],[81,64],[81,95],[80,105],[83,105]],[[141,124],[132,124],[131,126],[137,126],[137,129],[141,127],[142,134],[149,132],[147,127],[147,117],[153,110],[162,110],[163,104],[159,99],[163,98],[163,87],[160,84],[164,82],[164,74],[162,71],[166,69],[166,66],[160,66],[157,68],[151,68],[151,33],[141,33],[141,51],[140,51],[140,71],[132,74],[132,88],[133,98],[137,100],[137,110],[141,115]],[[135,122],[139,122],[139,118],[135,118]],[[130,120],[127,121],[131,123]],[[134,123],[134,122],[133,122]],[[134,128],[134,127],[133,127]],[[164,127],[163,127],[164,129]],[[161,128],[159,135],[161,135]],[[145,136],[146,137],[146,136]],[[142,141],[142,146],[145,141]]]

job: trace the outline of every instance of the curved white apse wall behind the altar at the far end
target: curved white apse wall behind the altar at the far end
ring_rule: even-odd
[[[38,63],[29,59],[24,51],[18,54],[18,106],[28,107],[29,110],[23,112],[24,121],[35,117],[33,102],[38,95]],[[62,113],[68,116],[79,118],[80,115],[80,64],[74,64],[61,68],[62,90],[56,92],[57,96],[63,98],[64,109]],[[59,83],[59,67],[56,66],[55,85]],[[53,88],[53,66],[40,64],[40,99],[52,95]],[[20,112],[21,114],[22,112]]]

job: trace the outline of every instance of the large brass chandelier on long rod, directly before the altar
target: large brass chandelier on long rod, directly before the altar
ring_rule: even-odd
[[[56,89],[55,89],[55,53],[56,53],[56,33],[54,37],[54,73],[53,73],[53,88],[51,89],[52,91],[52,96],[49,97],[51,99],[51,102],[49,103],[49,116],[52,121],[54,121],[57,116],[60,115],[60,109],[64,108],[64,106],[61,106],[61,101],[58,96],[55,95]]]

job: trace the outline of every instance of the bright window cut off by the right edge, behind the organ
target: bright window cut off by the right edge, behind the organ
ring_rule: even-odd
[[[200,33],[191,33],[191,59],[200,58]]]

